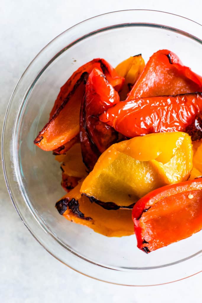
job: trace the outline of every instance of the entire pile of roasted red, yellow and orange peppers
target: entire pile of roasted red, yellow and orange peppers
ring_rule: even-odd
[[[202,229],[202,77],[173,52],[84,64],[34,143],[61,162],[69,221],[147,253]]]

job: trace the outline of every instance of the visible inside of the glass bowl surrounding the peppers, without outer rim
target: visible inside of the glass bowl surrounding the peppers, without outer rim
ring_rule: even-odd
[[[105,28],[78,40],[46,67],[33,83],[20,113],[18,167],[29,208],[63,246],[108,268],[148,269],[179,262],[200,251],[202,233],[146,255],[136,248],[134,235],[108,238],[65,220],[55,209],[55,202],[65,194],[60,185],[60,164],[51,152],[36,147],[33,140],[48,121],[60,87],[79,66],[100,57],[115,67],[125,58],[139,53],[147,62],[154,52],[164,48],[175,52],[184,65],[200,73],[201,45],[197,39],[156,25]]]

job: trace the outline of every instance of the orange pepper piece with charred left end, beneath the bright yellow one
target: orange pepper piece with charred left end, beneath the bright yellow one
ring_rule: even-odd
[[[131,210],[105,210],[96,203],[81,197],[81,181],[77,187],[56,203],[59,213],[67,220],[92,228],[108,237],[122,237],[134,234]]]

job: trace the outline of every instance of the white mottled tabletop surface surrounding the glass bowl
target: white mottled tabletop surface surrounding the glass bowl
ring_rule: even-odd
[[[18,78],[40,49],[65,29],[94,15],[131,8],[172,12],[200,23],[201,6],[200,0],[1,0],[0,127]],[[202,274],[157,287],[123,287],[86,278],[62,265],[22,224],[0,170],[1,303],[201,301]]]

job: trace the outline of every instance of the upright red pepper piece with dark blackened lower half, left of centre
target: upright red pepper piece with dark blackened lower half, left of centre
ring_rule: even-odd
[[[108,83],[105,75],[94,68],[85,86],[80,117],[81,151],[89,170],[94,167],[101,153],[118,140],[114,128],[99,121],[97,117],[118,102],[118,92]]]

